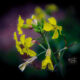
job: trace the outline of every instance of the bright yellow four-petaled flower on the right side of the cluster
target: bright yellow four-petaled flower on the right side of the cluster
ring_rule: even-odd
[[[61,35],[62,26],[57,26],[57,21],[54,17],[48,18],[48,21],[49,22],[44,22],[43,30],[45,30],[45,31],[54,31],[52,39],[57,39],[59,37],[59,33]]]

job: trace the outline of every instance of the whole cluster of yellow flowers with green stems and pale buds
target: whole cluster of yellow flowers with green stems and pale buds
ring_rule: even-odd
[[[47,7],[48,9],[51,8],[49,6]],[[53,8],[53,9],[56,9],[56,8]],[[25,24],[24,24],[24,20],[21,18],[21,16],[19,16],[18,24],[17,24],[18,35],[20,35],[19,40],[17,37],[17,32],[14,32],[14,40],[16,43],[16,48],[21,55],[24,55],[24,53],[26,53],[31,57],[27,59],[26,62],[22,63],[19,66],[20,70],[23,71],[25,67],[28,64],[32,63],[34,60],[36,60],[38,56],[41,55],[41,53],[37,54],[35,51],[30,49],[37,42],[37,40],[33,40],[31,37],[26,38],[25,34],[23,34],[22,28],[24,29],[33,28],[35,32],[41,34],[42,38],[45,39],[45,44],[47,45],[47,49],[45,49],[45,47],[41,43],[38,44],[45,50],[45,59],[42,60],[41,69],[46,69],[48,67],[49,70],[53,71],[54,66],[51,60],[52,50],[50,48],[50,44],[47,40],[47,35],[45,33],[53,32],[52,39],[58,39],[59,35],[61,35],[61,32],[62,32],[62,26],[58,26],[56,19],[54,17],[49,17],[45,13],[45,11],[42,10],[40,7],[35,8],[35,13],[31,16],[31,18],[26,19]],[[23,48],[21,46],[23,46]]]

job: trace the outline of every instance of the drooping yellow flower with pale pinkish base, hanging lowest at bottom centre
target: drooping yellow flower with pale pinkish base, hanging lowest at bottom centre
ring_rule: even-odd
[[[48,49],[46,52],[46,58],[42,61],[42,69],[46,69],[46,67],[48,66],[48,69],[53,71],[54,67],[51,61],[51,50]]]

